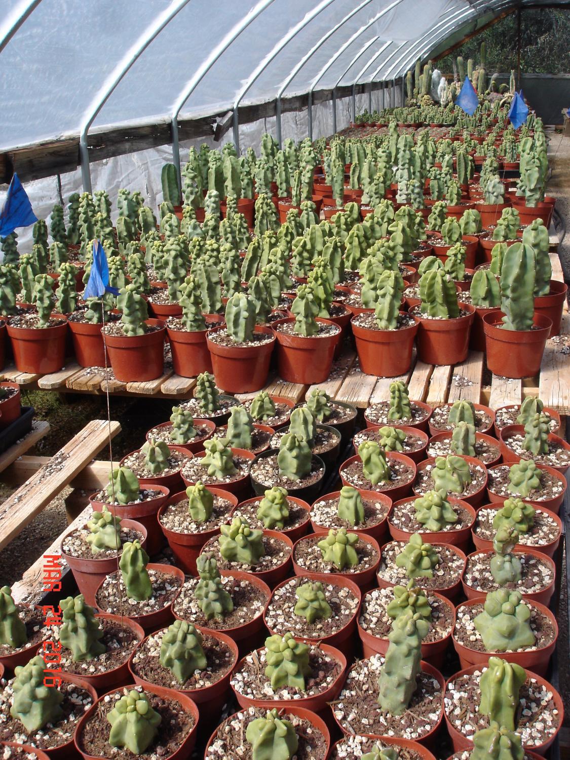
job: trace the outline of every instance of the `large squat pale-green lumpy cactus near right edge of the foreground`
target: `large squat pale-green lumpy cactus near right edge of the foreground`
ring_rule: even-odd
[[[517,651],[534,646],[536,641],[530,629],[530,608],[523,603],[520,591],[489,591],[483,612],[473,622],[489,652]]]

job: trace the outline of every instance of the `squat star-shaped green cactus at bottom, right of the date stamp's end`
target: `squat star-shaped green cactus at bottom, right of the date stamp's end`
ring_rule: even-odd
[[[162,717],[152,708],[144,692],[132,689],[116,701],[107,720],[111,724],[109,744],[142,755],[157,737]]]

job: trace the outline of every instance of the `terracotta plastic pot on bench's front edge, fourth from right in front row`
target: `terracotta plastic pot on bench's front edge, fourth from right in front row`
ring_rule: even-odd
[[[334,350],[340,340],[340,328],[332,335],[303,337],[288,335],[279,330],[279,325],[293,324],[294,318],[274,321],[277,338],[277,372],[285,382],[313,385],[325,382],[331,372]],[[332,325],[329,319],[317,318],[323,325]]]

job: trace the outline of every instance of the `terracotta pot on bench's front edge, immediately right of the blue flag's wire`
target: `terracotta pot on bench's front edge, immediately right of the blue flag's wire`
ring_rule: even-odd
[[[112,371],[120,382],[146,382],[163,374],[166,328],[158,319],[147,319],[146,324],[159,329],[144,335],[105,336]]]

